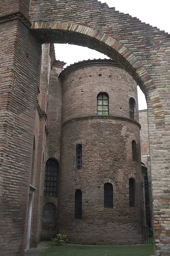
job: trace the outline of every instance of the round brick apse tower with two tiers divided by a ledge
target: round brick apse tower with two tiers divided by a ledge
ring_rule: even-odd
[[[136,82],[112,60],[83,61],[59,77],[59,233],[77,244],[139,244],[142,173]]]

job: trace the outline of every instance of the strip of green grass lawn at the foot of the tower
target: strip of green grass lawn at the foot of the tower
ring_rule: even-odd
[[[150,256],[153,245],[136,246],[51,246],[42,256]]]

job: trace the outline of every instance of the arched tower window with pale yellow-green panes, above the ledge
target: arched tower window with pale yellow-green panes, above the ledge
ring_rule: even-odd
[[[108,116],[109,114],[109,96],[107,93],[97,95],[97,115]]]

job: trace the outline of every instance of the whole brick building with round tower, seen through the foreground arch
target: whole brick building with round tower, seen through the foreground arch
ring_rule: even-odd
[[[64,64],[42,46],[26,249],[57,232],[73,243],[139,244],[136,82],[112,60]]]

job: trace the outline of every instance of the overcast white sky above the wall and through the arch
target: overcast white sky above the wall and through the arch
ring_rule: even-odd
[[[170,33],[170,0],[100,0],[102,3],[107,3],[109,7],[115,7],[116,11],[129,14],[132,17],[137,17],[151,26]],[[67,62],[67,65],[74,62],[108,58],[107,56],[88,49],[87,47],[80,47],[69,44],[55,45],[56,59]],[[147,108],[145,97],[139,89],[138,93],[139,110]]]

